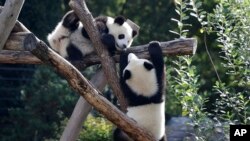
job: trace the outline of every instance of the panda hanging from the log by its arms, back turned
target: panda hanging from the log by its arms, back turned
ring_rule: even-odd
[[[128,101],[127,115],[152,133],[159,141],[165,141],[165,71],[159,42],[148,47],[150,61],[133,53],[120,56],[120,84]],[[116,128],[114,141],[132,141]]]

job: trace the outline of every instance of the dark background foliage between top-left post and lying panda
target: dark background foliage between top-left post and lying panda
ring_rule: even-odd
[[[48,33],[65,13],[65,4],[67,3],[63,3],[63,0],[26,0],[18,20],[37,37],[46,41]]]

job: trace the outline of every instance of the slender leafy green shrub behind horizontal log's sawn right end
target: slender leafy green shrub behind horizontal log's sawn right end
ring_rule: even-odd
[[[187,0],[177,1],[176,4],[176,13],[179,15],[179,19],[172,18],[172,21],[177,23],[178,32],[171,32],[180,38],[185,38],[190,26],[186,21],[190,19],[190,15],[195,15],[194,7],[192,1]],[[173,63],[173,77],[169,83],[178,101],[182,104],[182,115],[195,118],[194,116],[201,113],[205,101],[197,94],[199,85],[196,67],[191,64],[192,58],[189,56],[180,56]]]

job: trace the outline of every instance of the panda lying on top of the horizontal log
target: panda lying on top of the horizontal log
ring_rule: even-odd
[[[115,19],[100,16],[95,22],[111,55],[116,50],[129,48],[139,33],[139,26],[122,16]],[[47,39],[52,49],[68,60],[80,60],[94,51],[85,28],[73,11],[65,14]]]

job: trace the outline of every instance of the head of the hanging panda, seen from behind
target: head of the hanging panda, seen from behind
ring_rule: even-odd
[[[151,97],[158,91],[156,70],[149,60],[130,53],[122,75],[126,85],[137,95]]]

